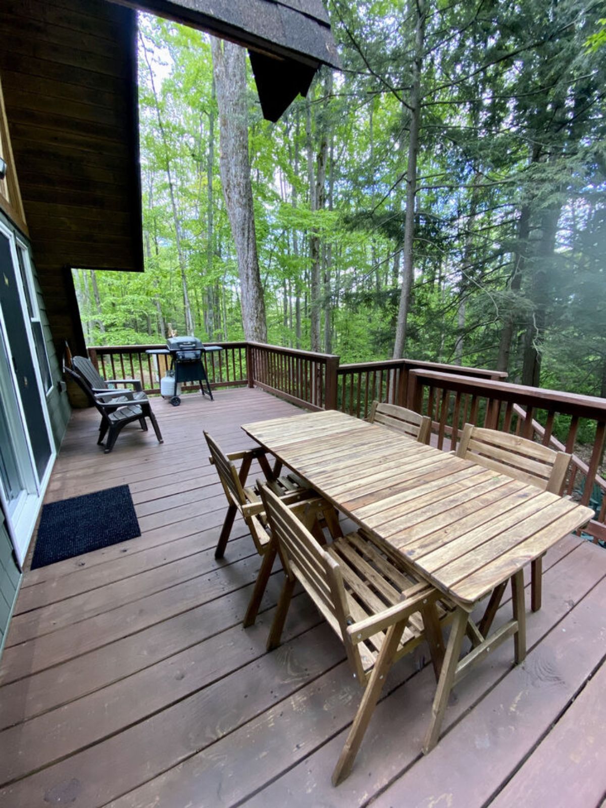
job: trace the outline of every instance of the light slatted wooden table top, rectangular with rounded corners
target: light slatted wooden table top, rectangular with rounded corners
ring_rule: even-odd
[[[242,429],[465,608],[594,516],[336,410]]]

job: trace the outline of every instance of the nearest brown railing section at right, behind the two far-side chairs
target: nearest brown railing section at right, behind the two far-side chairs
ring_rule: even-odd
[[[596,483],[606,490],[606,482],[598,475],[606,440],[606,398],[419,369],[409,373],[407,406],[431,416],[434,441],[447,449],[457,446],[463,425],[473,423],[538,439],[545,446],[574,454],[579,422],[587,419],[594,432],[591,458],[586,464],[573,457],[565,493],[576,491],[587,505]],[[553,435],[556,423],[563,440]],[[598,520],[604,522],[606,498],[597,509]]]

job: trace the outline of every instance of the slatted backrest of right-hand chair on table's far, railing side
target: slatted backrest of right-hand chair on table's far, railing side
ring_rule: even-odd
[[[560,494],[571,455],[555,452],[528,438],[466,423],[457,457],[508,474],[552,494]]]

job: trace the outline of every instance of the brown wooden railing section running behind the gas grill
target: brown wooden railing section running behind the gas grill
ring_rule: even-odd
[[[213,343],[222,351],[204,354],[204,366],[213,389],[246,385],[246,343]],[[141,381],[146,393],[160,392],[160,379],[170,368],[170,356],[150,356],[145,351],[162,345],[96,345],[88,349],[90,360],[104,379],[131,378]],[[195,383],[181,385],[196,389]]]

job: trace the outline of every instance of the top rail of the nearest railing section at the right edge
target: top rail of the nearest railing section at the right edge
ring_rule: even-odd
[[[420,381],[433,382],[436,386],[447,386],[462,393],[484,395],[486,398],[500,398],[502,401],[517,404],[530,404],[542,410],[553,410],[582,418],[606,420],[606,398],[565,393],[542,387],[513,385],[509,381],[493,381],[471,376],[457,376],[456,373],[440,373],[431,370],[411,370],[410,375]]]

